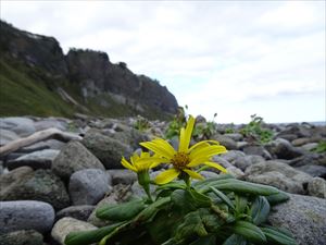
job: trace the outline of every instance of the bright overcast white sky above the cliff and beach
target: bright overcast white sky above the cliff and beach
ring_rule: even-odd
[[[108,52],[189,113],[242,123],[326,121],[325,0],[4,1],[1,19]]]

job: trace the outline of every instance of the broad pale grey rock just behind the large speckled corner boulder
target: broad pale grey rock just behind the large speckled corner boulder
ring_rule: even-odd
[[[278,162],[265,161],[247,168],[244,179],[250,182],[275,186],[288,193],[304,194],[312,176],[292,167]]]

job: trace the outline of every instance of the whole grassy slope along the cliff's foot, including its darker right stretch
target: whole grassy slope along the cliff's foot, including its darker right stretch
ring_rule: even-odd
[[[67,102],[58,94],[63,88],[74,100],[87,110]],[[103,106],[103,101],[105,105]],[[38,115],[72,118],[75,112],[97,117],[124,117],[142,114],[150,119],[166,119],[156,110],[147,108],[145,113],[117,103],[103,94],[85,101],[76,84],[48,75],[38,68],[22,62],[0,59],[0,117]]]

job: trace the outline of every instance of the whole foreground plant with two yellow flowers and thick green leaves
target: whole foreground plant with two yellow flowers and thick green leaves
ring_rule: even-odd
[[[195,119],[180,130],[179,147],[155,138],[140,145],[153,152],[134,154],[122,164],[136,172],[147,196],[99,207],[98,218],[112,224],[72,232],[66,245],[296,245],[292,235],[267,225],[271,206],[288,199],[275,187],[236,180],[224,173],[203,180],[199,166],[226,170],[211,161],[225,152],[215,140],[190,146]],[[161,163],[172,168],[154,180],[149,170]],[[193,182],[192,179],[200,181]],[[155,187],[150,192],[150,184]]]

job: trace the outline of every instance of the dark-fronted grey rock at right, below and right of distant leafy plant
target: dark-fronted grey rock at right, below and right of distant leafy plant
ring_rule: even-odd
[[[284,138],[277,138],[268,143],[265,148],[271,152],[273,158],[278,159],[293,159],[303,155],[302,150],[294,148]]]

